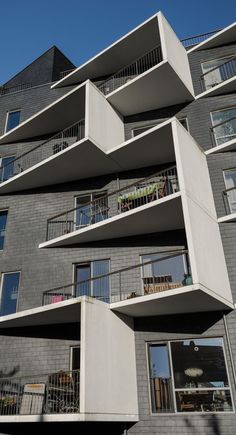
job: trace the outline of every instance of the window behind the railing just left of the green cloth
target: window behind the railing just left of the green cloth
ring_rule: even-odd
[[[76,227],[95,224],[108,217],[108,201],[105,192],[80,195],[76,198]],[[93,201],[93,202],[92,202]]]

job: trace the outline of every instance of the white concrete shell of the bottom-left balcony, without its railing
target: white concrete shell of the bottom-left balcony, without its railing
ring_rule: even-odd
[[[24,403],[19,398],[20,415],[0,415],[0,422],[138,421],[132,319],[124,315],[118,316],[110,310],[108,304],[84,296],[1,317],[0,330],[4,334],[6,329],[9,333],[11,328],[29,327],[32,332],[33,326],[48,325],[50,328],[54,322],[80,323],[80,370],[76,406],[74,403],[74,408],[67,407],[66,413],[62,409],[62,412],[54,410],[52,414],[50,409],[53,404],[50,398],[47,401],[46,395],[46,407],[41,403],[41,412],[35,412],[37,415],[29,415],[30,412],[24,415]],[[25,384],[27,383],[26,381]],[[50,388],[47,383],[46,388]]]

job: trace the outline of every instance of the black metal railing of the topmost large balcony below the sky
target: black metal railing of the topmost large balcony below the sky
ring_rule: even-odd
[[[101,83],[98,88],[104,95],[108,95],[115,91],[117,88],[133,80],[135,77],[143,74],[145,71],[149,70],[153,66],[157,65],[162,61],[161,46],[153,48],[148,53],[136,59],[129,65],[126,65],[118,72],[113,74],[103,83]]]

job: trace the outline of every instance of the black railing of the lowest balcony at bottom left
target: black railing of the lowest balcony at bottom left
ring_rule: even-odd
[[[79,413],[79,384],[79,370],[1,379],[0,416]]]

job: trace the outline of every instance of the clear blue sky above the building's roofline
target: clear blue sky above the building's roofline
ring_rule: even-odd
[[[0,83],[58,46],[75,65],[161,10],[179,37],[235,21],[236,0],[1,1]]]

